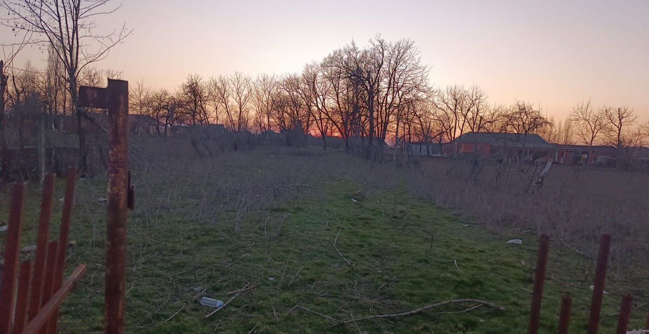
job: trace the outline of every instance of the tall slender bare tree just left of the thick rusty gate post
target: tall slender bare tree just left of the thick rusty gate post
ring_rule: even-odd
[[[85,110],[79,106],[78,79],[84,68],[106,58],[110,50],[132,32],[125,24],[109,34],[96,31],[95,20],[112,14],[119,7],[111,6],[110,0],[0,0],[0,8],[8,12],[2,24],[28,32],[31,44],[51,47],[66,70],[67,86],[77,115],[81,167],[85,160],[82,132]]]

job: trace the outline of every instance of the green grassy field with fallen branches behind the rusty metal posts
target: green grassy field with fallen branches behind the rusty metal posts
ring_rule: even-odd
[[[533,231],[487,230],[463,221],[458,213],[411,196],[398,173],[387,182],[390,186],[374,184],[371,180],[388,167],[342,153],[265,148],[181,163],[177,169],[182,173],[152,167],[134,176],[138,193],[129,220],[129,333],[527,329],[537,246]],[[71,230],[77,246],[68,267],[87,263],[88,272],[62,308],[62,333],[103,328],[106,206],[98,199],[105,196],[104,177],[78,183]],[[56,198],[62,197],[63,186],[58,184]],[[29,185],[23,245],[36,240],[37,188]],[[0,200],[3,221],[6,195]],[[60,219],[60,208],[54,219]],[[523,244],[506,244],[515,238]],[[573,297],[571,332],[585,331],[592,268],[592,262],[552,241],[541,332],[556,331],[564,293]],[[641,289],[646,280],[631,284],[615,276],[607,279],[610,293],[604,297],[600,332],[613,331],[621,296],[627,292],[638,306],[631,327],[641,327],[649,302]],[[212,309],[197,302],[200,296],[225,301],[228,292],[247,283],[256,288],[203,318]],[[505,311],[453,304],[332,329],[327,328],[336,321],[322,316],[349,320],[461,298],[492,302]],[[295,305],[313,312],[295,309],[289,314]]]

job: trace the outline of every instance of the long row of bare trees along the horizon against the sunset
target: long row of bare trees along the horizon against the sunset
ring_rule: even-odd
[[[28,62],[12,72],[9,104],[38,96],[43,112],[79,115],[71,80],[103,86],[105,77],[121,78],[118,71],[88,66],[71,79],[68,67],[56,47],[50,47],[43,71]],[[397,147],[415,141],[441,144],[467,132],[541,134],[556,143],[637,147],[644,145],[649,128],[639,125],[628,107],[594,110],[590,101],[582,102],[557,123],[530,102],[491,105],[477,85],[434,88],[413,41],[388,42],[381,36],[364,47],[345,45],[306,65],[302,73],[189,75],[175,91],[153,89],[141,80],[131,88],[130,109],[151,116],[151,126],[161,136],[180,125],[217,123],[234,132],[257,133],[299,128],[321,137],[325,149],[327,138],[336,136],[347,148],[362,145],[368,157],[386,141]]]

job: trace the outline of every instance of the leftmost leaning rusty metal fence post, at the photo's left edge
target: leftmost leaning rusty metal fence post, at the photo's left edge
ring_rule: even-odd
[[[18,257],[25,213],[25,184],[14,184],[5,241],[5,269],[0,287],[0,333],[11,333],[16,307]]]

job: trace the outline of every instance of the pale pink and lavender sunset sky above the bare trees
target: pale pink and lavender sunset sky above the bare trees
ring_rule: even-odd
[[[414,40],[437,87],[478,84],[491,103],[533,102],[558,119],[588,99],[649,118],[649,0],[129,0],[97,24],[124,22],[132,36],[97,67],[153,88],[190,73],[295,73],[382,34]],[[16,66],[45,57],[27,49]]]

